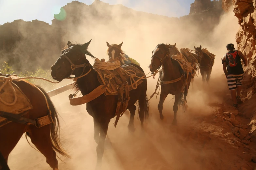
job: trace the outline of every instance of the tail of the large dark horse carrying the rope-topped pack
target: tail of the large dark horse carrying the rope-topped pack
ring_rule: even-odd
[[[138,107],[138,112],[139,112],[139,115],[138,115],[138,118],[141,119],[143,118],[144,121],[146,119],[149,119],[149,103],[148,103],[148,98],[147,98],[147,94],[146,94],[146,91],[147,91],[147,81],[146,79],[143,80],[142,84],[145,84],[144,86],[142,86],[142,94],[141,96],[139,97],[139,107]]]

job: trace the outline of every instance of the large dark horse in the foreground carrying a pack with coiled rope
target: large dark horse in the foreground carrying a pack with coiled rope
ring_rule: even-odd
[[[62,55],[52,66],[52,77],[55,80],[61,81],[64,78],[68,78],[71,74],[76,77],[87,74],[82,78],[78,78],[76,82],[76,90],[80,90],[82,95],[86,95],[92,92],[100,85],[97,78],[97,73],[93,70],[92,65],[86,59],[85,54],[88,54],[95,59],[91,53],[87,51],[87,48],[91,40],[83,45],[81,44],[67,44],[65,50],[62,51]],[[68,59],[67,59],[68,58]],[[75,65],[84,64],[84,68],[77,68],[74,71],[71,70],[70,60]],[[142,68],[134,64],[141,71]],[[90,71],[90,69],[92,71]],[[131,113],[130,121],[128,124],[129,130],[134,130],[134,115],[136,106],[134,105],[139,100],[139,118],[141,125],[143,126],[144,120],[149,116],[148,99],[146,96],[147,81],[143,79],[143,82],[138,85],[137,89],[131,90],[129,93],[130,100],[128,102],[128,109]],[[109,122],[115,117],[115,111],[117,106],[117,95],[100,95],[96,99],[86,104],[87,112],[94,118],[94,140],[98,143],[97,146],[97,166],[100,166],[103,152],[104,143],[108,131]]]

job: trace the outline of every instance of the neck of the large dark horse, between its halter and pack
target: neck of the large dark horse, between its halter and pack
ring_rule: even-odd
[[[78,87],[83,95],[89,94],[100,85],[97,73],[94,71],[92,65],[90,65],[90,68],[92,69],[90,73],[77,79]]]

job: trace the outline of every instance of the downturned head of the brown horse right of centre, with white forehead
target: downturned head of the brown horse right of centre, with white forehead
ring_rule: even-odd
[[[170,44],[158,44],[155,50],[152,51],[151,63],[149,65],[149,70],[153,73],[160,66],[166,57],[169,56]]]

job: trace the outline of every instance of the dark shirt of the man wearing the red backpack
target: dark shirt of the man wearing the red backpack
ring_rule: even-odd
[[[235,51],[230,51],[230,53],[234,53],[234,52]],[[230,75],[230,74],[234,74],[234,75],[244,74],[244,70],[243,70],[243,66],[242,66],[242,62],[241,62],[241,57],[237,54],[236,58],[237,58],[237,65],[234,66],[234,67],[230,67],[229,57],[226,55],[228,75]]]

